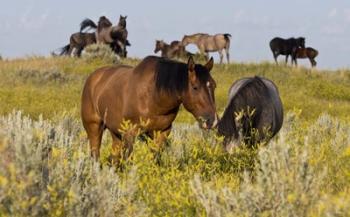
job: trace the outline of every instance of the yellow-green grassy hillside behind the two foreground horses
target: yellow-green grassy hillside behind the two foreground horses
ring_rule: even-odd
[[[138,62],[134,59],[122,61],[129,65]],[[54,113],[79,110],[86,76],[108,64],[111,63],[72,58],[0,61],[0,114],[21,109],[31,117],[43,114],[49,118]],[[349,70],[311,71],[271,63],[215,65],[213,77],[217,82],[219,112],[227,104],[227,92],[231,84],[241,77],[254,75],[273,80],[279,88],[285,109],[301,110],[303,119],[314,120],[322,113],[350,118]],[[177,120],[193,122],[188,113],[181,113]]]

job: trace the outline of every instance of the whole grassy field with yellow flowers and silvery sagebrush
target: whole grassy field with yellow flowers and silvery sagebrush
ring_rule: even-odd
[[[0,60],[0,216],[350,216],[350,70],[215,65],[219,114],[236,79],[276,83],[279,135],[230,155],[181,111],[160,165],[137,141],[120,171],[105,164],[107,133],[102,169],[91,161],[79,118],[85,78],[108,64]]]

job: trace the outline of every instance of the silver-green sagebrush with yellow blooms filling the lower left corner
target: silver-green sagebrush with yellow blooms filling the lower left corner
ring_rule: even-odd
[[[74,122],[0,118],[0,213],[5,216],[140,215],[135,169],[121,178],[87,153]],[[73,132],[73,133],[72,133]]]

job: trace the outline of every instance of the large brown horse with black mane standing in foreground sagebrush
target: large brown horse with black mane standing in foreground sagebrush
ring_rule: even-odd
[[[213,62],[211,58],[203,66],[195,64],[192,57],[184,64],[149,56],[134,68],[119,65],[97,69],[85,83],[81,104],[91,155],[99,158],[102,134],[107,128],[113,138],[113,162],[128,157],[135,135],[123,133],[125,120],[135,124],[137,131],[157,139],[161,148],[181,104],[202,128],[214,127],[216,84],[209,73]]]

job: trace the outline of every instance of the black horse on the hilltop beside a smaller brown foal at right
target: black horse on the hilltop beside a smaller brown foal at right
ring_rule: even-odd
[[[270,41],[270,48],[276,64],[278,64],[277,62],[278,55],[285,55],[286,64],[287,64],[288,56],[289,55],[293,56],[293,53],[299,47],[305,48],[305,38],[299,37],[299,38],[283,39],[283,38],[276,37]]]

